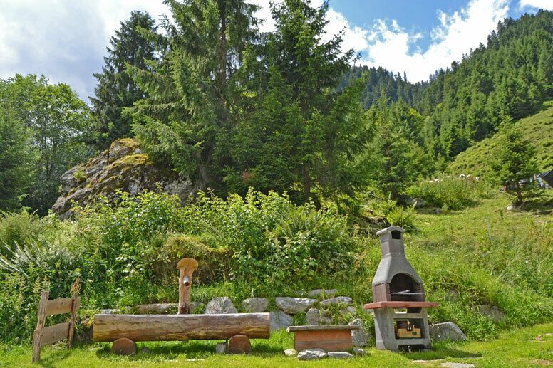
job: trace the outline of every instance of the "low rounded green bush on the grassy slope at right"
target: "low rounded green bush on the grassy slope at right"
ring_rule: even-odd
[[[445,207],[451,210],[464,209],[477,202],[482,184],[471,180],[446,177],[439,182],[423,181],[409,189],[410,196],[423,199],[430,206]]]

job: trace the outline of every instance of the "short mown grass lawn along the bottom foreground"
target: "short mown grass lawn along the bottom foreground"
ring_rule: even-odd
[[[270,340],[253,340],[254,353],[215,354],[216,342],[142,342],[148,347],[134,357],[115,357],[110,344],[80,345],[74,349],[45,347],[43,367],[336,367],[337,361],[324,359],[300,362],[285,357],[283,349],[292,346],[291,336],[276,332]],[[462,362],[476,367],[553,366],[553,323],[503,332],[497,340],[435,345],[430,352],[392,353],[367,349],[366,357],[340,361],[342,367],[440,367],[443,362]],[[195,360],[193,360],[195,359]],[[30,347],[0,347],[1,367],[31,367]]]

